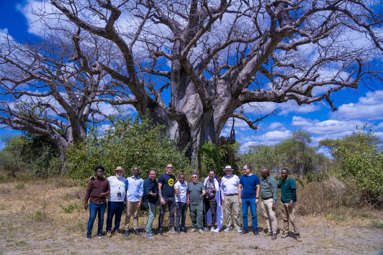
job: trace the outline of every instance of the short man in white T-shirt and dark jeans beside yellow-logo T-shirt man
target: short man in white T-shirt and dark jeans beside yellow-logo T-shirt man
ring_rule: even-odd
[[[189,206],[188,200],[188,184],[185,182],[185,175],[178,175],[178,182],[174,185],[175,189],[175,208],[177,209],[177,214],[175,216],[175,226],[177,227],[177,233],[181,234],[181,231],[187,233],[189,231],[185,228],[186,221],[186,212]],[[181,219],[181,225],[180,225]]]

